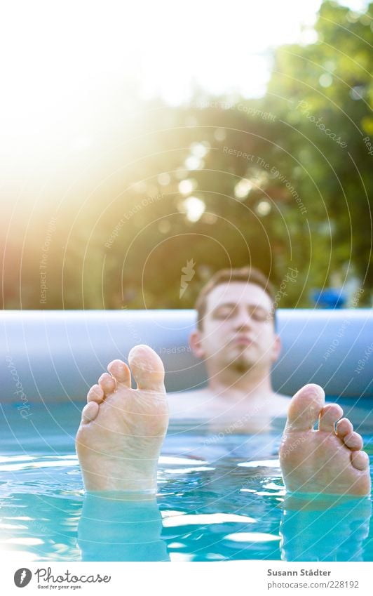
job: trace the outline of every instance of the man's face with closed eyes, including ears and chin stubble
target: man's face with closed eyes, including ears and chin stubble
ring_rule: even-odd
[[[257,284],[229,282],[208,294],[203,330],[196,332],[196,353],[241,373],[271,366],[280,340],[274,331],[272,303]]]

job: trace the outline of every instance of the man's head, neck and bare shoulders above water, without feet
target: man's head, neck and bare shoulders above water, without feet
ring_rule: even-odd
[[[212,277],[198,296],[197,329],[190,337],[191,349],[205,362],[208,386],[173,394],[172,418],[251,432],[286,416],[290,400],[271,385],[280,354],[273,305],[271,284],[257,270],[221,270]]]

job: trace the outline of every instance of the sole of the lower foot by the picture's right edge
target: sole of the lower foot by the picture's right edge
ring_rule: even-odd
[[[342,414],[337,404],[325,406],[325,394],[318,385],[306,385],[294,395],[280,446],[288,491],[370,493],[369,457],[361,451],[362,437]],[[318,430],[313,430],[317,420]]]

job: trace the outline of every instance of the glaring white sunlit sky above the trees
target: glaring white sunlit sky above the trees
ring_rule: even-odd
[[[358,10],[365,2],[346,4]],[[161,95],[173,105],[187,101],[194,85],[213,94],[262,95],[271,48],[313,41],[319,6],[320,0],[8,2],[0,15],[0,154],[26,137],[34,143],[52,126],[79,122],[95,104],[100,110],[126,77],[136,77],[143,98]]]

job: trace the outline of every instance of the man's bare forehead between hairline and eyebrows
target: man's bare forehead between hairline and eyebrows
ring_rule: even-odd
[[[260,306],[271,310],[272,303],[269,295],[257,284],[247,282],[226,282],[213,288],[207,296],[207,310],[212,312],[222,304],[237,304],[244,306]]]

